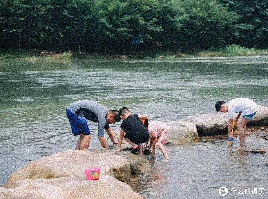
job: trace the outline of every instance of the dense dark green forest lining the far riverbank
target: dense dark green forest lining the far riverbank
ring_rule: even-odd
[[[117,53],[132,38],[144,51],[268,48],[268,0],[0,1],[1,49]]]

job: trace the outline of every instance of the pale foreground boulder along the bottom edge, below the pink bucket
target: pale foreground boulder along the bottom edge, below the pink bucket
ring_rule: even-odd
[[[128,184],[105,174],[100,174],[98,180],[65,177],[18,180],[3,186],[5,188],[0,187],[0,199],[142,199]]]

